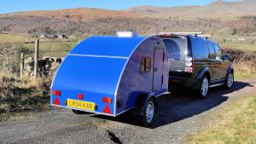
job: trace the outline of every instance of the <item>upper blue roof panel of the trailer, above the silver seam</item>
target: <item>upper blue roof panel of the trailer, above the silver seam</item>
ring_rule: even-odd
[[[146,37],[93,36],[86,38],[70,55],[107,55],[129,57]]]

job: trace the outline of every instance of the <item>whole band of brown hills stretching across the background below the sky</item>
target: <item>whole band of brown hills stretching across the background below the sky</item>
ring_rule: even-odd
[[[213,35],[255,35],[256,1],[217,1],[206,6],[142,6],[123,11],[60,9],[0,14],[0,32],[38,37],[42,33],[109,35],[133,30],[143,35],[157,32],[206,32]],[[227,19],[229,16],[229,19]]]

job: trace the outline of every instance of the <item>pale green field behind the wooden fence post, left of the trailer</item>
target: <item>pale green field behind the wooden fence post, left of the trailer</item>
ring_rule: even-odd
[[[0,49],[15,48],[26,49],[22,52],[28,56],[33,56],[35,49],[35,38],[12,34],[0,34]],[[68,39],[40,39],[39,56],[55,56],[64,57],[67,53],[77,45],[77,40],[73,38]]]

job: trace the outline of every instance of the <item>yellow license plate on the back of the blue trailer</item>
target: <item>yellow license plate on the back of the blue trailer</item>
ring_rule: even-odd
[[[88,102],[88,101],[77,101],[77,100],[71,100],[67,99],[67,107],[73,107],[73,108],[79,108],[89,111],[95,111],[95,103],[94,102]]]

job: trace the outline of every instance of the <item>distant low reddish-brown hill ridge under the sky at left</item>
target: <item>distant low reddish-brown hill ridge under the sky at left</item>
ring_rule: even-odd
[[[107,9],[61,9],[61,10],[44,10],[28,11],[13,14],[0,14],[0,17],[6,16],[39,16],[44,18],[53,18],[59,20],[96,20],[104,18],[132,18],[137,14],[131,14],[124,11],[107,10]]]

